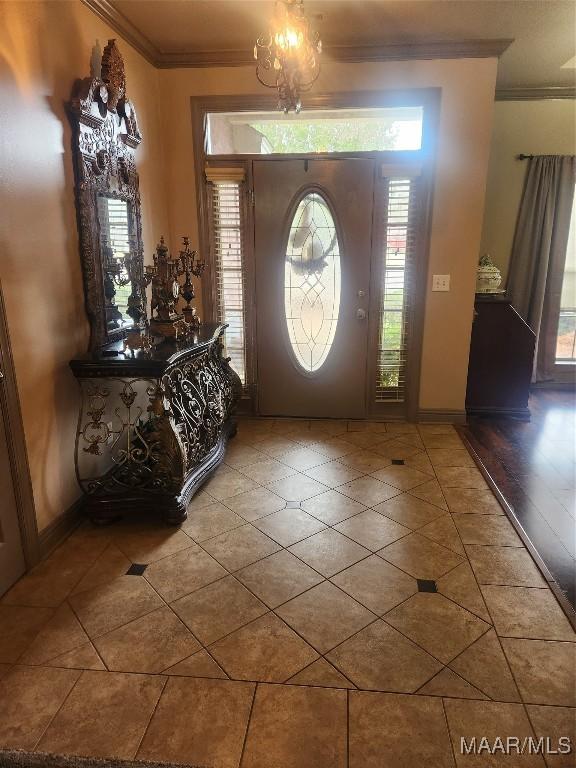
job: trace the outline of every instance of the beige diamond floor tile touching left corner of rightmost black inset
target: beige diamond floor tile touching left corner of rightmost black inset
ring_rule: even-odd
[[[378,615],[418,591],[416,579],[376,555],[350,566],[331,581]]]

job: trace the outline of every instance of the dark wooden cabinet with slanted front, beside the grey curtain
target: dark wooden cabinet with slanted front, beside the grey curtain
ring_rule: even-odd
[[[477,294],[466,412],[530,419],[535,334],[503,295]]]

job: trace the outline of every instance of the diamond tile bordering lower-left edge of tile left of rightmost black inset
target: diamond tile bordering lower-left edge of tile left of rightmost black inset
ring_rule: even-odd
[[[326,581],[285,603],[276,613],[320,653],[334,648],[376,618]]]

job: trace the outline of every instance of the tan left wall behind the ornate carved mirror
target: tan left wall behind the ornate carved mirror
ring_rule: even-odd
[[[64,101],[117,37],[79,2],[0,2],[0,279],[39,528],[79,496],[76,382],[86,349],[70,128]],[[148,254],[167,227],[158,73],[119,40],[144,136],[137,154]]]

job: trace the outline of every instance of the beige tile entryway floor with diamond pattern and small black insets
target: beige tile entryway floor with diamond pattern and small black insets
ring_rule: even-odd
[[[244,420],[180,529],[83,525],[2,598],[0,747],[573,766],[460,738],[574,743],[575,641],[452,427]]]

